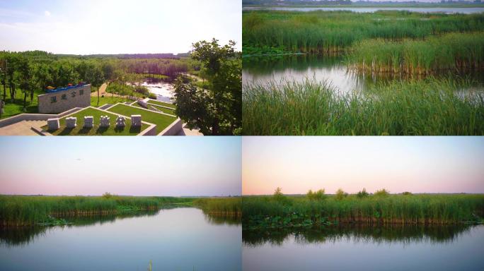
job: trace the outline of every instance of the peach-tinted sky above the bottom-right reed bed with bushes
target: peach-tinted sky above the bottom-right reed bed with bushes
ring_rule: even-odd
[[[244,137],[242,194],[484,193],[484,137]]]

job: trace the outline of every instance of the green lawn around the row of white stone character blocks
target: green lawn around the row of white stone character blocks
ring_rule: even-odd
[[[110,126],[109,128],[100,128],[99,127],[99,118],[101,115],[108,115],[110,116]],[[126,126],[125,128],[116,128],[116,118],[117,115],[110,114],[107,112],[103,112],[98,109],[88,108],[84,109],[81,112],[77,112],[71,116],[77,117],[77,127],[76,128],[66,128],[65,127],[65,118],[60,119],[60,126],[59,130],[57,131],[48,131],[52,133],[52,135],[137,135],[144,129],[148,128],[148,124],[142,124],[141,128],[132,128],[131,127],[131,120],[129,119],[129,115],[126,119]],[[94,117],[94,127],[93,128],[83,128],[84,124],[84,116],[93,116]],[[47,126],[43,126],[43,129],[47,130]]]

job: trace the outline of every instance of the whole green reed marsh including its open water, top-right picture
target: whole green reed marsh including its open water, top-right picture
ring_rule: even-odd
[[[243,133],[481,135],[483,16],[243,12]]]

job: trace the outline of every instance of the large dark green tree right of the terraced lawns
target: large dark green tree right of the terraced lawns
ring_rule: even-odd
[[[205,135],[241,133],[242,61],[234,45],[220,46],[215,39],[192,44],[191,57],[202,64],[207,89],[186,77],[175,80],[176,114]]]

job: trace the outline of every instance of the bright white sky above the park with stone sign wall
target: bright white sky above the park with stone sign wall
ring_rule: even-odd
[[[54,54],[185,53],[236,42],[241,0],[0,0],[0,50]]]

